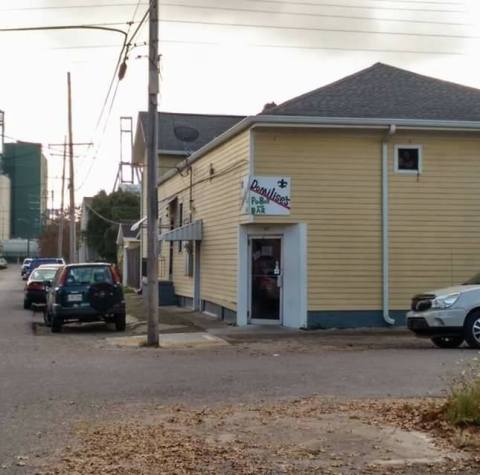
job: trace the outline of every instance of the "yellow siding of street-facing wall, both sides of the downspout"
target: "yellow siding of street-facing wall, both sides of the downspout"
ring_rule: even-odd
[[[379,132],[255,132],[255,174],[292,177],[292,212],[255,222],[308,224],[309,310],[382,306]],[[480,138],[390,139],[390,304],[480,271]],[[393,172],[395,144],[423,146],[419,178]]]

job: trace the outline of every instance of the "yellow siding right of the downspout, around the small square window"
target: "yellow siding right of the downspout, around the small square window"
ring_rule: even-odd
[[[391,305],[412,294],[461,283],[480,271],[480,138],[401,132],[394,144],[423,146],[423,172],[390,167]]]

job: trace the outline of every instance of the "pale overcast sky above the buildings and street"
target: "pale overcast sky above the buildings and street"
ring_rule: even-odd
[[[168,0],[160,2],[160,110],[256,114],[381,61],[480,87],[480,2],[475,0]],[[139,21],[141,0],[0,0],[0,28]],[[133,32],[135,23],[130,33]],[[7,141],[63,142],[67,71],[78,148],[76,196],[111,191],[120,117],[147,106],[148,28],[97,125],[122,36],[90,30],[0,32],[0,109]],[[48,156],[48,153],[47,153]],[[49,158],[60,202],[61,158]],[[50,201],[49,201],[50,203]],[[50,204],[49,204],[50,206]]]

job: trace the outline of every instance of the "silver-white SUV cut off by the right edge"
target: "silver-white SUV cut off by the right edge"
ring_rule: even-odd
[[[407,327],[440,348],[456,348],[464,340],[480,348],[480,273],[462,285],[415,295]]]

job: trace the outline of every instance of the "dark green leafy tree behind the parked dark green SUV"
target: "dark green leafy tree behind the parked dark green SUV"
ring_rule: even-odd
[[[90,205],[87,242],[108,262],[117,261],[118,224],[133,223],[140,218],[140,196],[128,191],[114,191],[107,195],[102,190]]]

